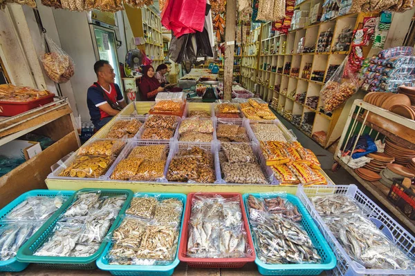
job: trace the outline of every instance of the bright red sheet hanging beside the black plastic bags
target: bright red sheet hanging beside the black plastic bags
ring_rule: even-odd
[[[173,30],[176,37],[193,32],[203,32],[206,0],[169,0],[162,14],[161,23]]]

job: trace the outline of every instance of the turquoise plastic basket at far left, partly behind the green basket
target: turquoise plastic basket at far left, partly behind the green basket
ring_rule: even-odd
[[[25,201],[29,197],[55,197],[59,193],[62,195],[62,197],[68,199],[75,192],[73,190],[30,190],[17,197],[17,199],[13,200],[0,210],[0,221],[3,219],[3,217],[6,217],[6,215],[10,213],[16,206],[21,204],[21,202]],[[62,206],[64,206],[64,204],[62,204]],[[29,263],[19,262],[17,261],[17,257],[12,257],[7,261],[0,261],[0,271],[19,272],[24,270],[28,265]]]

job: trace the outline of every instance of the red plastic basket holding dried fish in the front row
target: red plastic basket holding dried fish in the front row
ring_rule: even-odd
[[[241,204],[243,226],[246,230],[246,238],[248,247],[250,248],[250,256],[244,258],[192,258],[187,256],[187,237],[189,234],[188,226],[190,220],[190,213],[192,212],[192,199],[194,195],[201,195],[204,197],[214,197],[214,195],[221,195],[224,198],[239,197]],[[243,207],[242,195],[239,193],[189,193],[187,194],[185,218],[183,220],[183,228],[181,233],[180,246],[178,248],[178,259],[181,262],[186,262],[190,267],[196,268],[241,268],[248,262],[255,262],[255,248],[252,242],[252,236],[249,229],[248,219],[246,217],[245,208]]]

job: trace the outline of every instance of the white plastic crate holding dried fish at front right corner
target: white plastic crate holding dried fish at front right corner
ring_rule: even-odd
[[[327,272],[329,275],[415,275],[415,270],[366,269],[361,264],[353,261],[351,257],[347,255],[346,251],[344,251],[344,248],[340,245],[326,224],[324,224],[322,217],[320,217],[310,199],[308,199],[308,197],[317,195],[331,194],[346,195],[347,197],[358,201],[360,207],[364,210],[364,213],[367,214],[367,217],[376,224],[382,233],[385,233],[385,235],[391,239],[391,242],[401,248],[408,257],[415,259],[415,237],[387,215],[387,213],[376,205],[374,201],[362,193],[356,185],[299,186],[297,189],[297,197],[299,197],[308,210],[308,213],[310,213],[311,217],[315,220],[337,258],[338,264],[333,270]]]

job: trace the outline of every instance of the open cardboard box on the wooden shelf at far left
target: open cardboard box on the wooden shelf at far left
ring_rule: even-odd
[[[24,157],[24,159],[29,160],[42,152],[42,148],[40,147],[39,142],[13,140],[3,146],[0,146],[0,152],[1,155],[9,158]]]

